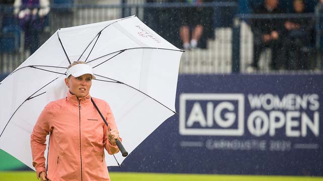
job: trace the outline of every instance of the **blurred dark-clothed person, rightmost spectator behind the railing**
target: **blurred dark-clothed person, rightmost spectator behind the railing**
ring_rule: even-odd
[[[305,13],[303,0],[293,1],[293,12]],[[298,17],[285,22],[285,39],[283,43],[283,59],[287,69],[309,68],[309,47],[313,40],[314,20],[312,18]]]

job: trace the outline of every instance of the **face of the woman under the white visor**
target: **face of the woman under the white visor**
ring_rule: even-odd
[[[65,78],[65,84],[69,87],[72,95],[82,98],[90,92],[92,76],[91,74],[84,74],[78,77],[71,75],[69,78]]]

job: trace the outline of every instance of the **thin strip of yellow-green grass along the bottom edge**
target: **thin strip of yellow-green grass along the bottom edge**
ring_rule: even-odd
[[[131,173],[112,172],[113,181],[316,181],[323,180],[323,177],[310,176],[253,176],[253,175],[216,175],[216,174],[172,174],[172,173]],[[0,180],[37,180],[36,173],[32,171],[0,171]]]

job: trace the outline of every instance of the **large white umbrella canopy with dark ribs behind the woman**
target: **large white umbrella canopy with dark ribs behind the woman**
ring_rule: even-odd
[[[91,96],[110,104],[123,145],[131,153],[175,114],[182,52],[136,16],[58,30],[0,82],[0,149],[34,169],[33,126],[49,102],[67,96],[67,67],[82,60],[97,78]],[[106,155],[107,165],[117,165]],[[125,159],[115,156],[120,162]]]

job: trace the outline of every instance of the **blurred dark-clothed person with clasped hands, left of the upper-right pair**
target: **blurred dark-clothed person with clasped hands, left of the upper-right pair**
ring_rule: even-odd
[[[264,0],[264,4],[254,10],[254,14],[281,14],[284,13],[278,7],[278,0]],[[260,53],[265,48],[271,48],[272,61],[271,68],[279,69],[279,54],[282,47],[282,32],[284,30],[283,20],[277,18],[253,19],[251,21],[251,30],[253,32],[253,62],[252,69],[258,70],[258,61]]]

